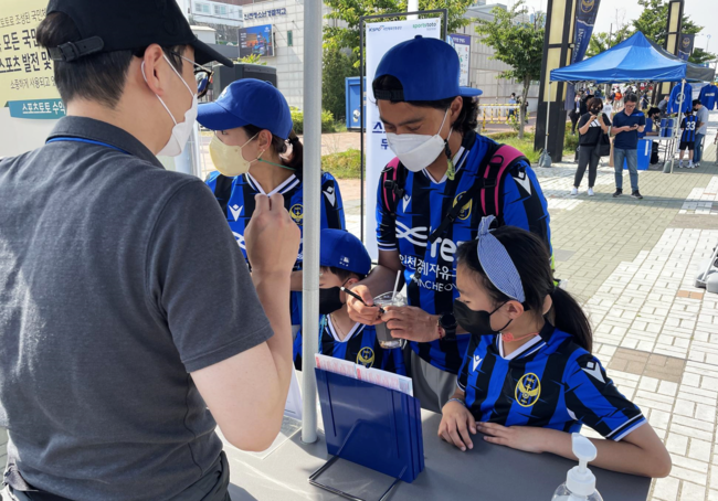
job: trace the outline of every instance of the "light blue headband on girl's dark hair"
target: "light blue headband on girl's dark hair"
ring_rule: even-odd
[[[511,299],[524,303],[524,285],[518,270],[506,252],[506,247],[492,235],[490,225],[496,220],[493,215],[482,218],[478,225],[478,262],[484,273],[498,290]]]

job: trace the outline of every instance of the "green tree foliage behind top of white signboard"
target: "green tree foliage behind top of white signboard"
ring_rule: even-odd
[[[464,13],[474,2],[475,0],[419,0],[419,9],[447,9],[447,29],[454,32],[471,22],[469,19],[464,18]],[[351,49],[357,67],[359,67],[359,18],[406,11],[406,0],[325,0],[325,4],[332,9],[327,14],[327,19],[344,21],[347,26],[325,26],[324,46],[334,50]]]

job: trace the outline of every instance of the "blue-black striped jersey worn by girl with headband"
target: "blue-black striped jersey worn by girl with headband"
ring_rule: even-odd
[[[588,425],[613,440],[646,422],[601,362],[548,323],[509,355],[498,335],[472,335],[456,384],[481,422],[569,433]]]

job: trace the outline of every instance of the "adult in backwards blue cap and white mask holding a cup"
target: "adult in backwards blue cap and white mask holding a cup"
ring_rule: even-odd
[[[372,89],[397,154],[377,196],[379,266],[353,290],[367,305],[391,290],[399,270],[408,307],[379,309],[350,298],[352,318],[386,321],[410,340],[406,370],[424,408],[440,412],[456,385],[468,335],[453,316],[457,244],[476,238],[483,216],[534,232],[550,248],[549,215],[520,151],[476,134],[481,90],[458,86],[451,45],[414,38],[387,52]]]

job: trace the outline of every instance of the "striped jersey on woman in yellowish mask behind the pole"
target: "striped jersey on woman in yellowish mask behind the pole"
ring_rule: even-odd
[[[236,178],[228,178],[219,172],[212,172],[205,182],[214,192],[217,201],[226,214],[226,221],[245,259],[244,228],[254,213],[254,195],[257,193],[268,195],[282,193],[284,206],[294,222],[297,223],[302,233],[304,233],[304,189],[302,181],[296,175],[289,177],[271,193],[265,193],[260,183],[249,172]],[[346,230],[339,184],[328,172],[321,173],[321,230]],[[302,269],[302,256],[303,248],[300,245],[299,255],[294,265],[295,270]],[[302,324],[302,292],[292,292],[292,324]]]

